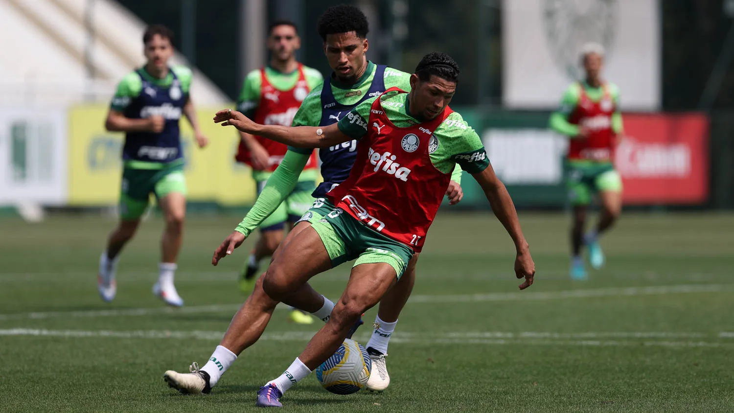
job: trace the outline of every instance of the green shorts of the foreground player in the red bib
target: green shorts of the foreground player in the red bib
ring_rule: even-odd
[[[403,275],[413,257],[413,249],[377,233],[322,198],[318,198],[314,205],[318,206],[308,210],[301,220],[310,222],[319,234],[333,267],[356,258],[353,267],[387,263],[395,269],[398,278]]]

